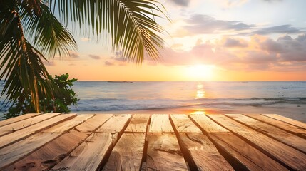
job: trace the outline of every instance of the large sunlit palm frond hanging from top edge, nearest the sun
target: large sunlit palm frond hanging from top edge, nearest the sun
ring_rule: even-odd
[[[143,61],[146,54],[157,60],[163,48],[161,33],[165,31],[152,18],[166,16],[153,0],[50,0],[50,8],[58,7],[59,16],[68,24],[91,26],[96,35],[108,31],[113,51],[118,49],[130,61]]]

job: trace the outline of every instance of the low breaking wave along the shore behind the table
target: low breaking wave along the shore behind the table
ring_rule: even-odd
[[[3,101],[0,100],[0,105]],[[226,106],[265,106],[276,104],[306,105],[306,98],[200,98],[200,99],[125,99],[125,98],[86,98],[71,106],[71,111],[118,111],[118,110],[155,110],[166,108],[223,108]],[[2,106],[7,111],[9,106]]]

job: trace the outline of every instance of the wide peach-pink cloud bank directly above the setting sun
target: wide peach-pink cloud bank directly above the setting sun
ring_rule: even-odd
[[[255,35],[250,39],[223,37],[214,43],[198,42],[190,51],[165,48],[165,66],[213,65],[225,70],[302,71],[306,69],[306,35],[276,40]],[[294,69],[295,66],[299,66]]]

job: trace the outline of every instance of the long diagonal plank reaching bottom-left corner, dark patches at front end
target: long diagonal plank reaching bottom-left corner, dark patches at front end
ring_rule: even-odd
[[[76,118],[83,115],[78,115]],[[108,120],[112,115],[95,115],[84,123],[77,125],[72,130],[60,137],[48,142],[31,155],[24,157],[19,162],[6,167],[6,170],[49,170],[58,162],[63,160],[72,150],[83,142],[94,130]],[[73,118],[72,120],[76,120]],[[80,118],[81,119],[81,118]],[[84,118],[83,118],[84,119]],[[64,122],[68,123],[70,120]],[[69,123],[70,127],[71,124]],[[50,133],[50,129],[46,133]],[[53,135],[53,134],[52,134]]]

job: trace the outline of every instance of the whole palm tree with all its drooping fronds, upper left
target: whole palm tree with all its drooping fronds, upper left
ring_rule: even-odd
[[[158,59],[163,28],[155,17],[167,17],[155,0],[0,0],[0,79],[6,101],[16,103],[31,95],[39,113],[39,95],[53,97],[56,86],[49,80],[47,57],[69,56],[76,41],[66,28],[83,35],[108,33],[113,51],[141,63],[144,56]],[[103,36],[104,37],[104,36]],[[37,86],[39,83],[39,86]]]

